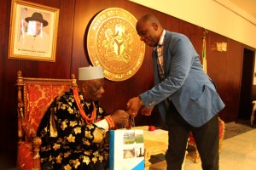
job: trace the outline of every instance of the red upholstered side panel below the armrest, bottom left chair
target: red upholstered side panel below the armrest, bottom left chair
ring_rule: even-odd
[[[28,142],[22,142],[18,146],[18,165],[19,169],[32,170],[33,166],[33,153],[32,144]]]

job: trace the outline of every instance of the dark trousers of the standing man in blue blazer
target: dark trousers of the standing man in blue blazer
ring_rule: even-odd
[[[171,104],[166,116],[166,128],[169,135],[169,145],[166,151],[167,170],[180,170],[189,138],[193,133],[195,144],[201,156],[203,170],[218,170],[218,115],[201,127],[192,127],[183,120],[174,105]]]

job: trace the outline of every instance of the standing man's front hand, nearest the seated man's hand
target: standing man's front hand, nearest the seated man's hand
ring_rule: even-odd
[[[140,108],[142,107],[141,105],[141,99],[139,97],[135,97],[135,98],[131,98],[127,105],[127,113],[132,116],[135,117],[137,116],[137,112],[140,110]]]

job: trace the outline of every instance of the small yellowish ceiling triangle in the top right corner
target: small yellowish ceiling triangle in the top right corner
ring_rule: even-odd
[[[255,0],[230,0],[231,3],[234,3],[239,8],[243,9],[253,16],[256,20],[256,1]]]

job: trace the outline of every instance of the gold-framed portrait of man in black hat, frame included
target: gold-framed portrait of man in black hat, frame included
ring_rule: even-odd
[[[12,0],[9,59],[55,62],[59,8]]]

